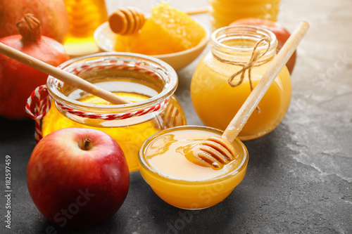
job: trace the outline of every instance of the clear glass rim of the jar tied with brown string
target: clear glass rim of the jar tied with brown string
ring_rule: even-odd
[[[252,26],[252,25],[232,25],[232,26],[227,26],[227,27],[220,27],[218,30],[215,30],[210,37],[210,46],[211,48],[214,48],[215,50],[218,51],[228,51],[232,53],[252,53],[253,47],[239,47],[239,46],[228,46],[226,44],[223,44],[220,40],[227,38],[227,37],[233,37],[233,34],[229,34],[229,32],[237,32],[240,33],[242,32],[241,36],[244,36],[244,32],[251,33],[253,35],[257,36],[257,39],[262,39],[262,38],[268,38],[270,41],[270,48],[267,51],[267,54],[269,53],[276,53],[276,48],[277,48],[277,37],[276,35],[271,32],[270,30],[266,30],[261,27],[257,26]],[[253,37],[256,38],[256,37]],[[265,51],[268,48],[267,45],[261,45],[258,46],[258,50],[263,50]]]

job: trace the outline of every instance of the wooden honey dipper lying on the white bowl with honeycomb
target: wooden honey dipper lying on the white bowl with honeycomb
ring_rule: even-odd
[[[208,9],[185,11],[188,15],[206,13]],[[114,11],[108,18],[111,31],[120,35],[131,35],[142,29],[146,17],[144,13],[134,7],[122,7]]]

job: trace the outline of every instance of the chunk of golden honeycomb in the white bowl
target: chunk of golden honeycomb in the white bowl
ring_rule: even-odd
[[[130,36],[115,36],[115,51],[142,53],[149,56],[185,51],[199,44],[206,32],[189,15],[158,4],[142,30]]]

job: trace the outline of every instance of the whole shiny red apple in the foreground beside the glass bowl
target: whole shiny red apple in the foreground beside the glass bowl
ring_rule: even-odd
[[[59,129],[35,146],[27,166],[34,204],[58,226],[88,228],[113,216],[130,174],[120,145],[96,129]]]

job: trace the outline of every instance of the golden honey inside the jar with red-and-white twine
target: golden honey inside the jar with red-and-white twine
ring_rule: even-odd
[[[148,96],[144,96],[139,93],[116,92],[116,94],[132,102],[137,102],[139,100],[145,100],[149,98]],[[106,100],[102,100],[101,98],[98,98],[92,95],[84,96],[79,100],[84,103],[104,104],[104,105],[108,104]],[[180,108],[180,105],[173,98],[170,98],[169,105],[173,105],[177,110],[182,111]],[[180,113],[180,115],[183,116],[183,112]],[[122,151],[125,153],[125,157],[130,171],[135,171],[139,168],[139,165],[137,162],[137,155],[138,155],[138,150],[140,146],[146,140],[146,138],[148,138],[152,134],[155,134],[161,129],[165,129],[165,124],[163,122],[163,119],[167,121],[167,120],[170,120],[172,117],[168,116],[168,118],[169,119],[165,119],[164,114],[161,114],[160,118],[156,117],[156,118],[147,119],[146,121],[139,122],[137,124],[132,121],[131,121],[131,124],[129,124],[129,120],[125,119],[124,124],[120,126],[103,126],[101,119],[85,119],[84,124],[81,124],[71,119],[68,119],[68,117],[65,117],[64,115],[61,114],[61,112],[58,111],[58,109],[56,108],[56,105],[51,105],[51,109],[44,116],[44,119],[42,122],[42,132],[43,132],[43,135],[46,136],[52,131],[55,131],[57,129],[67,128],[67,127],[89,127],[92,129],[99,129],[101,131],[104,131],[110,136],[112,136],[115,139],[115,141],[119,143],[120,147],[122,148]],[[182,119],[182,124],[184,123],[185,123],[185,120]]]

